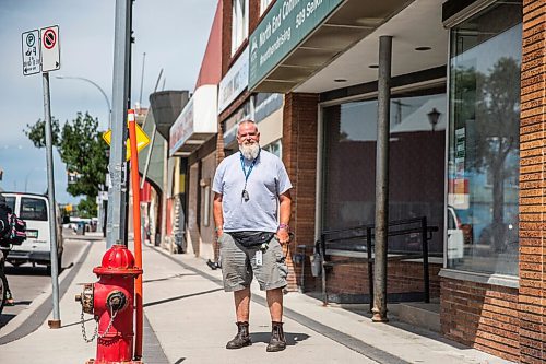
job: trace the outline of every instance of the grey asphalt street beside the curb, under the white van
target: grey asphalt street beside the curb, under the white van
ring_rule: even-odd
[[[62,256],[62,271],[74,265],[74,259],[88,244],[87,239],[76,236],[72,230],[63,230],[64,253]],[[62,271],[59,272],[61,275]],[[33,267],[25,263],[20,267],[5,265],[5,275],[11,292],[15,298],[14,306],[5,306],[0,316],[0,330],[20,313],[27,309],[32,302],[41,293],[51,287],[51,278],[46,273],[46,266]]]

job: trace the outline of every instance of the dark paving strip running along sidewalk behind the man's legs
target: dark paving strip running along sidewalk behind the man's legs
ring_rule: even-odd
[[[211,274],[207,274],[206,272],[198,269],[198,268],[194,268],[194,267],[191,267],[174,257],[171,257],[167,251],[163,251],[162,248],[158,248],[156,246],[153,246],[151,244],[146,244],[146,246],[149,246],[150,248],[152,248],[154,251],[156,253],[159,253],[162,255],[164,255],[165,257],[167,257],[168,259],[173,260],[174,262],[176,262],[177,265],[181,266],[182,268],[185,269],[188,269],[190,271],[193,271],[195,273],[198,273],[199,275],[223,286],[223,283],[222,283],[222,280],[217,279],[216,277],[213,277]],[[264,307],[268,307],[268,303],[265,301],[265,298],[263,298],[262,296],[259,296],[259,295],[256,295],[253,294],[252,295],[252,301],[259,305],[262,305]],[[293,319],[294,321],[307,327],[308,329],[311,329],[368,359],[371,359],[378,363],[381,363],[381,364],[410,364],[411,362],[407,362],[399,356],[395,356],[389,352],[385,352],[379,348],[376,348],[373,345],[370,345],[355,337],[352,337],[347,333],[344,333],[340,330],[336,330],[332,327],[329,327],[329,326],[325,326],[323,324],[320,324],[319,321],[317,320],[313,320],[312,318],[310,317],[307,317],[302,314],[299,314],[293,309],[289,309],[289,308],[284,308],[284,316],[285,317],[288,317],[289,319]]]

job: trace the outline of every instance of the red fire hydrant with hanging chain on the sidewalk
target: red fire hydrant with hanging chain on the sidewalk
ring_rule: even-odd
[[[134,279],[142,269],[134,266],[134,257],[124,245],[114,245],[103,256],[103,263],[95,267],[98,282],[85,284],[83,293],[75,300],[83,312],[93,314],[98,322],[95,337],[97,354],[87,364],[136,364],[133,361],[133,308]],[[83,326],[83,313],[82,313]]]

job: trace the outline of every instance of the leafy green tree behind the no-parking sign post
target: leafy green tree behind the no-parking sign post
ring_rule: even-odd
[[[67,191],[72,196],[87,196],[90,203],[95,203],[95,196],[108,171],[108,145],[98,131],[98,119],[94,119],[88,113],[78,113],[75,119],[64,124],[62,132],[57,119],[52,118],[51,125],[52,142],[67,165],[67,171],[79,176],[73,184],[69,184]],[[46,145],[45,122],[41,119],[27,125],[24,132],[36,148]],[[94,209],[96,211],[96,207]]]

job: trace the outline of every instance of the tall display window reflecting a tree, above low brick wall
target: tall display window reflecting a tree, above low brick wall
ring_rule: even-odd
[[[518,274],[521,1],[451,30],[448,267]]]

